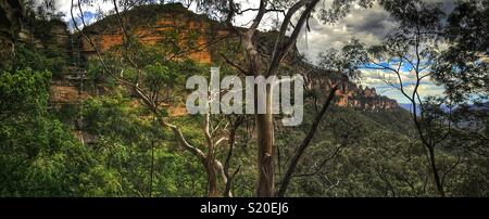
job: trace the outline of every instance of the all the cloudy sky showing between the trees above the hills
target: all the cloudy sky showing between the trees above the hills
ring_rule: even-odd
[[[333,0],[323,0],[319,4],[328,5]],[[435,0],[427,0],[435,1]],[[450,12],[453,9],[454,0],[440,0],[443,3],[446,12]],[[258,0],[237,0],[246,5],[258,8]],[[58,0],[57,9],[60,12],[65,13],[66,20],[70,18],[71,0]],[[101,9],[106,12],[113,9],[111,1],[102,2],[99,0],[90,8],[86,8],[84,11],[92,13],[86,13],[89,21],[93,20],[93,13],[97,9]],[[236,18],[235,24],[237,26],[247,26],[253,20],[256,12],[248,12]],[[261,29],[271,29],[276,24],[272,22],[276,18],[276,14],[271,14],[264,18],[261,24]],[[297,46],[299,51],[305,55],[311,62],[316,62],[317,54],[326,51],[330,48],[340,49],[348,43],[352,37],[359,39],[366,46],[378,44],[383,41],[384,37],[397,27],[396,21],[389,16],[389,13],[384,11],[380,7],[374,5],[371,9],[362,9],[358,5],[353,5],[351,12],[337,23],[329,25],[323,24],[317,18],[312,17],[310,21],[311,31],[302,31],[298,39]],[[373,87],[377,90],[377,93],[386,95],[388,98],[397,100],[399,103],[406,103],[408,100],[396,89],[387,86],[383,80],[384,74],[378,70],[362,69],[362,79],[360,80],[363,87]],[[414,80],[413,74],[408,72],[403,73],[403,79],[406,83],[411,83]],[[425,79],[419,87],[422,95],[440,95],[443,92],[443,88],[434,85],[429,81],[429,78]],[[408,90],[410,86],[406,86]]]

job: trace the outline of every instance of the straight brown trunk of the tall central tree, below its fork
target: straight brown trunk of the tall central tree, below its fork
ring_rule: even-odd
[[[266,88],[266,113],[256,114],[258,185],[256,196],[274,196],[274,121],[272,116],[272,90]]]

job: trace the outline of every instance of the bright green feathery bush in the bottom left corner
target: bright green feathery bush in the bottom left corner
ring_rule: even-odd
[[[0,139],[2,196],[82,194],[78,177],[92,158],[62,124],[42,117],[17,120],[1,127]]]

